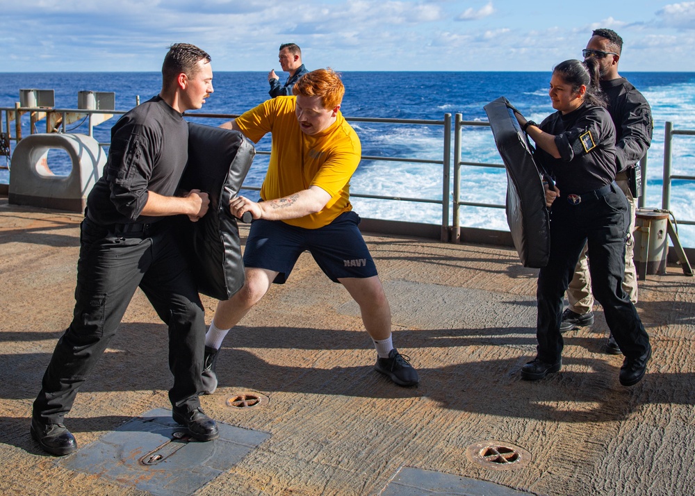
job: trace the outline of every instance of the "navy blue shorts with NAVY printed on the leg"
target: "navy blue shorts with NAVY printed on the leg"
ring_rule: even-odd
[[[284,283],[297,258],[309,251],[321,270],[338,282],[343,277],[372,277],[377,267],[357,225],[359,215],[352,211],[338,215],[327,226],[305,229],[279,220],[254,220],[244,250],[245,267],[279,272],[275,283]]]

